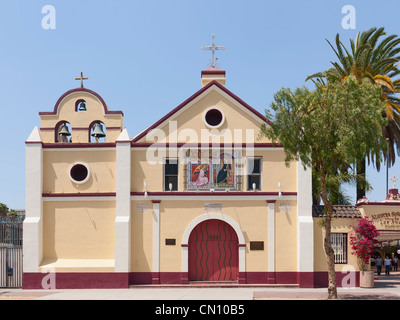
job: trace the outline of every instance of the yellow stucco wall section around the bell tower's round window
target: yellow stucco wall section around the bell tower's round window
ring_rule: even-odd
[[[115,192],[115,150],[45,149],[43,156],[43,192]],[[76,184],[69,177],[73,163],[89,166],[90,178]]]

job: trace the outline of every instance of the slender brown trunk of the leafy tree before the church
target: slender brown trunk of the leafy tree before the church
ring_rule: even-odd
[[[333,206],[328,200],[324,174],[321,174],[320,180],[321,180],[321,198],[322,201],[324,202],[325,208],[327,208],[325,225],[324,225],[325,226],[324,250],[326,255],[326,261],[328,263],[328,278],[329,278],[328,299],[337,299],[335,260],[331,244]]]

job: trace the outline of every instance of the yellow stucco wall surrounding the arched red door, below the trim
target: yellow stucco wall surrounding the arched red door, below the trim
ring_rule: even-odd
[[[296,201],[289,212],[279,212],[276,203],[275,246],[276,271],[296,271]],[[221,215],[232,218],[241,228],[245,241],[246,271],[265,272],[268,269],[268,205],[266,201],[200,201],[162,200],[160,203],[160,272],[181,272],[182,237],[190,222],[204,214],[205,203],[222,204]],[[137,204],[147,210],[137,212]],[[152,269],[152,217],[150,201],[132,201],[132,271]],[[176,245],[166,245],[165,239],[176,239]],[[250,250],[250,241],[263,241],[264,250]]]

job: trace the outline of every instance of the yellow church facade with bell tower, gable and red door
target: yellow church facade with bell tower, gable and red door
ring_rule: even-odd
[[[203,70],[200,90],[133,137],[83,85],[39,113],[26,141],[24,288],[49,275],[56,288],[327,285],[311,171],[285,166],[225,76]],[[358,270],[348,234],[362,210],[336,210],[340,286],[346,266]]]

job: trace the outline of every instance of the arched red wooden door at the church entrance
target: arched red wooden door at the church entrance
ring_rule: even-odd
[[[189,280],[238,279],[238,238],[224,221],[206,220],[189,237]]]

